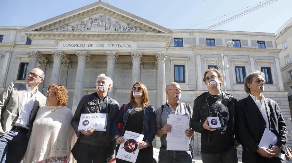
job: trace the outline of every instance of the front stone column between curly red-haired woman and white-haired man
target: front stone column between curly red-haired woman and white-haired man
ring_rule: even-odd
[[[76,55],[78,58],[78,65],[77,65],[76,80],[75,80],[75,86],[74,86],[74,96],[73,96],[73,106],[72,106],[73,114],[75,113],[77,105],[83,96],[85,62],[89,57],[87,51],[76,51]]]

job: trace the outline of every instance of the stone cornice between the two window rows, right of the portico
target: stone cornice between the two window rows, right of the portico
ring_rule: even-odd
[[[224,51],[226,46],[197,46],[193,45],[192,50],[214,50],[214,51]],[[228,47],[226,51],[249,51],[249,52],[271,52],[280,53],[282,49],[267,49],[267,48],[237,48]]]

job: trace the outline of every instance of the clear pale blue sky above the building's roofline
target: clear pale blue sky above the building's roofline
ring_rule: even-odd
[[[107,3],[107,0],[102,0]],[[204,29],[264,0],[109,0],[109,4],[170,29]],[[0,0],[1,26],[30,26],[95,3],[94,0]],[[202,22],[218,18],[202,24]],[[274,33],[292,17],[292,0],[278,0],[214,30]],[[190,28],[192,27],[192,28]]]

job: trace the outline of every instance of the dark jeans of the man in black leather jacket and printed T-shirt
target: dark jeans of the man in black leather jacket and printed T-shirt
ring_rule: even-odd
[[[219,154],[202,153],[203,163],[237,163],[237,152],[234,147]]]

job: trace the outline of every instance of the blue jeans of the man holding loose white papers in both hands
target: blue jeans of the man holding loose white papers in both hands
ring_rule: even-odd
[[[158,155],[159,163],[192,163],[190,151],[166,150],[160,148]]]

